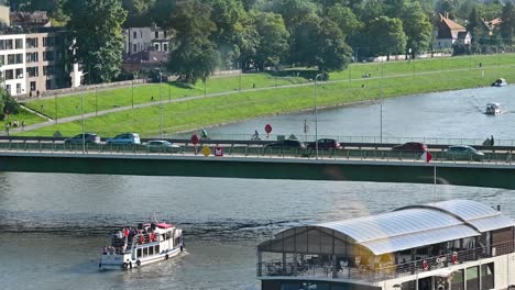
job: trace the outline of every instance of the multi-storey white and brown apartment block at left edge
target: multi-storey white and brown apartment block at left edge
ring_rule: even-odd
[[[58,31],[0,35],[2,86],[12,96],[70,87],[79,71],[68,64],[67,47]]]

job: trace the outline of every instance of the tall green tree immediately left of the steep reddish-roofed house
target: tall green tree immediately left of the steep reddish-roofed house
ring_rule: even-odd
[[[430,48],[432,25],[418,2],[408,4],[402,13],[403,30],[406,34],[406,47],[412,48],[412,58]]]

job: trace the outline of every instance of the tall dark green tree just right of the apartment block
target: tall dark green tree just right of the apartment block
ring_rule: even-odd
[[[74,60],[83,64],[91,83],[113,80],[120,74],[122,23],[127,12],[119,0],[68,1]]]

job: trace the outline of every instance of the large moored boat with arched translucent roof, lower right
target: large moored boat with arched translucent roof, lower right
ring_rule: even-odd
[[[258,246],[263,290],[515,289],[515,222],[469,200],[295,226]]]

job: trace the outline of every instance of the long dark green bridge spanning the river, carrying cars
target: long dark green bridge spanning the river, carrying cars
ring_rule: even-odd
[[[213,146],[211,146],[212,149]],[[67,172],[138,176],[348,180],[374,182],[437,183],[515,189],[511,150],[490,152],[482,161],[449,160],[431,149],[427,164],[418,154],[392,154],[385,148],[263,152],[261,145],[224,146],[224,156],[204,156],[191,145],[177,153],[152,153],[143,145],[66,146],[61,143],[0,143],[0,171]]]

